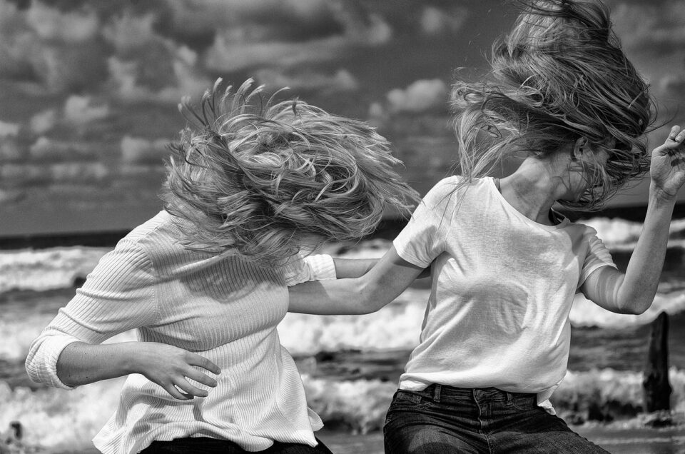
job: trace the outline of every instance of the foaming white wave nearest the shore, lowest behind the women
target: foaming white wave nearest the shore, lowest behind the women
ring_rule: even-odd
[[[685,411],[685,371],[671,368],[669,377],[674,412]],[[25,443],[51,450],[78,450],[91,446],[90,440],[106,423],[118,403],[123,378],[106,380],[75,390],[43,388],[11,389],[0,382],[0,428],[18,420],[26,429]],[[337,378],[311,378],[303,375],[310,408],[329,428],[366,433],[382,428],[385,411],[396,384],[382,380],[340,381]],[[591,370],[567,377],[552,396],[562,416],[585,412],[590,405],[601,408],[641,405],[641,373],[611,369]],[[616,414],[622,425],[640,427],[641,415]]]

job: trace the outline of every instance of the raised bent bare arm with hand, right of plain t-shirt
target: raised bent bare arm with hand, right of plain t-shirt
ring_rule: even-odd
[[[674,126],[666,143],[652,152],[649,204],[626,273],[604,266],[590,274],[581,287],[587,298],[608,311],[639,314],[654,301],[676,196],[685,183],[684,140],[685,130]]]

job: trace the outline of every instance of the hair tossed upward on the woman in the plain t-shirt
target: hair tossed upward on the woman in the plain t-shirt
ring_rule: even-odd
[[[470,181],[506,156],[544,157],[584,137],[591,149],[606,149],[609,161],[587,166],[590,184],[579,201],[560,203],[598,208],[649,168],[641,140],[653,121],[648,86],[601,2],[519,3],[514,28],[492,46],[488,80],[453,86],[459,170]]]

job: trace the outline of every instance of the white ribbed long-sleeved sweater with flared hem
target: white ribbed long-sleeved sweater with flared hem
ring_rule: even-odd
[[[178,244],[175,221],[161,211],[103,256],[34,340],[26,358],[29,376],[69,389],[56,374],[66,345],[101,343],[138,328],[138,340],[198,353],[222,372],[208,397],[186,401],[143,375],[129,375],[116,413],[93,439],[103,453],[137,453],[153,440],[189,436],[233,440],[249,451],[273,440],[316,445],[313,430],[323,424],[307,407],[276,325],[288,309],[287,286],[335,278],[333,260],[311,256],[262,268],[240,256],[190,251]]]

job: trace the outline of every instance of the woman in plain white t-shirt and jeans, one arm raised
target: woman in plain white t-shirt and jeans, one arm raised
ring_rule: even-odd
[[[385,423],[387,453],[599,453],[554,415],[578,291],[616,313],[651,305],[685,130],[651,154],[644,229],[626,273],[596,232],[552,209],[593,208],[649,158],[647,86],[598,2],[534,1],[497,41],[492,78],[457,82],[461,176],[427,193],[392,248],[355,279],[290,288],[290,311],[370,313],[431,267],[420,342]],[[487,176],[503,158],[514,173]]]

